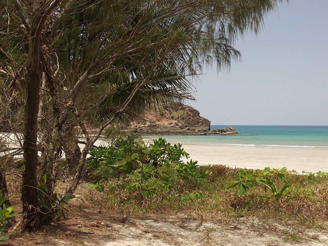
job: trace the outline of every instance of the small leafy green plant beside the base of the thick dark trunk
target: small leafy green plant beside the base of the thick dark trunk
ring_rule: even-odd
[[[41,213],[44,215],[51,216],[51,219],[55,219],[59,221],[59,215],[63,215],[65,218],[67,209],[64,207],[64,204],[67,204],[70,199],[74,198],[75,195],[63,195],[58,193],[53,193],[51,196],[48,194],[48,188],[46,186],[47,182],[47,174],[45,174],[39,181],[38,181],[38,202]],[[53,186],[55,188],[55,186]]]

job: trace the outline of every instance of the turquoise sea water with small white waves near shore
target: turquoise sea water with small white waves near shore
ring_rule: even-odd
[[[211,130],[223,125],[211,125]],[[232,126],[237,135],[163,136],[168,142],[262,148],[327,149],[328,126]],[[146,136],[145,136],[146,137]],[[160,136],[148,136],[158,138]]]

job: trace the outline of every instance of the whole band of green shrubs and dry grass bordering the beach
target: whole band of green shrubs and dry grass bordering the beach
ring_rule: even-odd
[[[304,226],[316,221],[325,227],[327,222],[327,173],[198,166],[197,161],[181,160],[189,154],[180,144],[172,146],[162,138],[145,145],[129,137],[114,146],[92,150],[89,175],[92,180],[95,176],[101,180],[86,185],[101,192],[92,193],[90,202],[111,210],[137,216],[140,211],[196,212],[228,220],[241,215],[302,221]]]

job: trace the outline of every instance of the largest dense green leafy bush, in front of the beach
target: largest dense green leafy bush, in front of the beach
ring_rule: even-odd
[[[100,180],[87,187],[103,191],[101,183],[116,177],[114,186],[129,190],[130,195],[159,195],[163,199],[172,190],[179,190],[181,182],[196,185],[206,174],[197,172],[197,161],[181,161],[182,157],[189,157],[181,147],[181,144],[171,145],[163,138],[146,145],[143,140],[129,136],[113,146],[93,148],[87,158],[87,167],[90,176]]]

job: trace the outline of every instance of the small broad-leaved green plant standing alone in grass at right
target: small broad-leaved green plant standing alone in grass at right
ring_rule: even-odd
[[[265,193],[267,193],[267,190],[271,191],[273,198],[277,199],[280,198],[285,191],[288,191],[289,183],[285,177],[286,170],[286,167],[280,170],[275,168],[271,170],[270,167],[266,167],[263,171],[258,170],[257,174],[255,174],[252,169],[240,169],[239,180],[231,181],[228,188],[238,186],[239,195],[246,195],[247,190],[254,186],[259,186],[264,188]],[[277,189],[275,184],[278,180],[282,180],[284,183],[280,190]]]

